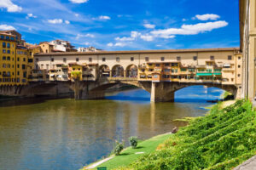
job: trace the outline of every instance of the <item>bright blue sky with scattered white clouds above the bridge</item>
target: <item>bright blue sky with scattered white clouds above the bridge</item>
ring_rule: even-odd
[[[239,47],[238,0],[0,0],[0,30],[105,50]]]

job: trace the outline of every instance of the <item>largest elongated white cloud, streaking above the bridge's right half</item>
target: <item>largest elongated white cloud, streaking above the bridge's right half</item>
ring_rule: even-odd
[[[224,20],[199,23],[195,25],[183,25],[181,28],[169,28],[165,30],[151,31],[150,33],[154,37],[172,38],[174,35],[196,35],[205,31],[212,31],[224,26],[228,26],[228,23]]]

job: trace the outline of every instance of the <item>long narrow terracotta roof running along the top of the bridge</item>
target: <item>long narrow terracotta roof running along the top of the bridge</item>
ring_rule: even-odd
[[[90,54],[164,54],[164,53],[197,53],[197,52],[215,52],[215,51],[235,51],[240,48],[195,48],[195,49],[161,49],[161,50],[134,50],[134,51],[96,51],[96,52],[62,52],[37,54],[37,56],[49,55],[90,55]]]

